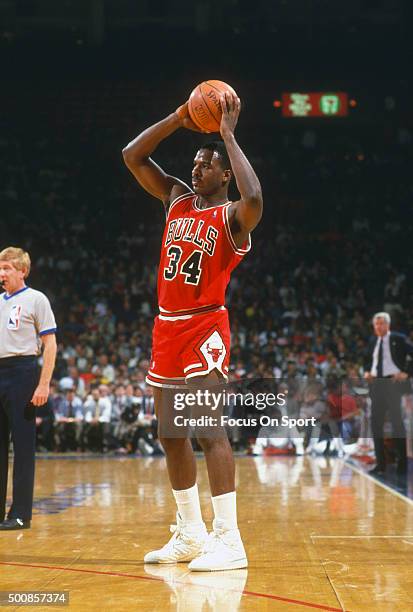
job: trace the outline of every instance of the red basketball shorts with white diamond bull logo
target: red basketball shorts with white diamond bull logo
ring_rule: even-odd
[[[230,331],[226,308],[177,320],[159,315],[152,334],[152,356],[146,382],[179,388],[214,369],[228,380]]]

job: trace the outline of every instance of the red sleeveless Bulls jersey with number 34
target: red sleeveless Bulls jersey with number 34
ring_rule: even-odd
[[[231,272],[251,246],[248,240],[240,249],[232,238],[231,202],[204,209],[197,202],[198,196],[187,193],[169,208],[158,272],[159,310],[164,316],[223,306]]]

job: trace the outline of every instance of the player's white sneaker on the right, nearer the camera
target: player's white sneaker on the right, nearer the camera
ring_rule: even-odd
[[[225,529],[224,521],[215,519],[202,554],[191,561],[193,572],[214,572],[242,569],[248,566],[247,555],[239,529]]]

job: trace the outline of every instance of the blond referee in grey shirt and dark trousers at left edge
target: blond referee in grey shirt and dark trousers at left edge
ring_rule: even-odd
[[[0,531],[29,529],[32,518],[36,437],[35,407],[45,404],[56,360],[56,321],[49,300],[25,284],[29,254],[0,252]],[[40,373],[37,360],[43,350]],[[7,518],[10,433],[13,494]]]

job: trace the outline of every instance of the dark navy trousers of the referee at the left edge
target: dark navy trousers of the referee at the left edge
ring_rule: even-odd
[[[0,359],[0,520],[6,513],[10,434],[14,463],[8,518],[32,518],[36,414],[28,404],[38,381],[36,357]]]

